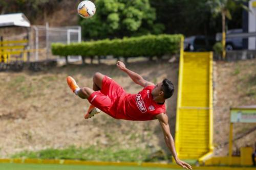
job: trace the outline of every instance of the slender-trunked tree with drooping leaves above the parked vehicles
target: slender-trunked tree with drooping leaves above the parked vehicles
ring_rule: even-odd
[[[222,57],[224,59],[226,57],[226,17],[232,19],[230,10],[238,7],[242,7],[248,11],[248,7],[244,5],[246,2],[248,2],[248,0],[208,0],[208,5],[210,6],[212,13],[215,16],[220,14],[222,16]]]

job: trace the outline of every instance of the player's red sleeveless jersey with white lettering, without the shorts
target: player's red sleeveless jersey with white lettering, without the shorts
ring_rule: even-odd
[[[119,98],[116,118],[125,120],[152,120],[159,113],[165,113],[165,105],[153,100],[154,85],[143,88],[137,94],[126,93]]]

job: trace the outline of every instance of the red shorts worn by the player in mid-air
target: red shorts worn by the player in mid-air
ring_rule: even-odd
[[[116,107],[121,95],[125,94],[124,89],[108,76],[102,80],[102,88],[94,91],[88,101],[101,111],[116,118]]]

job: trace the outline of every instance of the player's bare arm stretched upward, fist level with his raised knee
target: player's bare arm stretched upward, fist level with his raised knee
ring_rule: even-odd
[[[126,68],[123,62],[117,61],[116,65],[120,70],[126,72],[126,74],[130,76],[130,78],[134,81],[134,83],[141,85],[142,87],[154,85],[154,83],[144,80],[143,77],[137,74],[136,72]]]

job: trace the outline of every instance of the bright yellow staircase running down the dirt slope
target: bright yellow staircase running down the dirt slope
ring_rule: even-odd
[[[180,159],[212,153],[212,53],[183,53],[179,66],[175,144]]]

